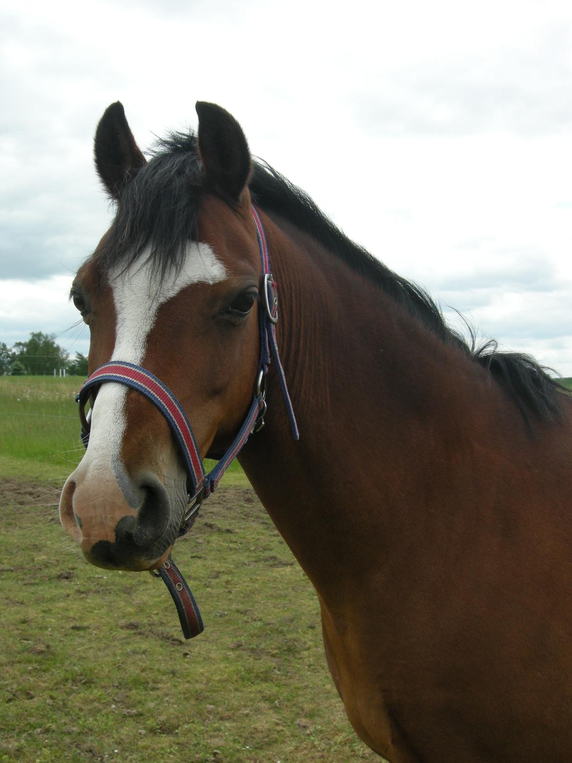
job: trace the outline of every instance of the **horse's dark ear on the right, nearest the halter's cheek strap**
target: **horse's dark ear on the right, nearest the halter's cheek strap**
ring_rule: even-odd
[[[220,106],[197,101],[198,150],[207,179],[238,201],[250,174],[250,151],[242,127]]]

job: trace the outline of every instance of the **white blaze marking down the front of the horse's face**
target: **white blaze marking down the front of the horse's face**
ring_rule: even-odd
[[[159,307],[185,286],[214,284],[227,277],[222,263],[206,243],[190,243],[181,271],[167,273],[162,282],[146,261],[147,255],[148,252],[143,252],[125,272],[121,273],[120,268],[118,273],[109,275],[117,316],[111,360],[141,365]],[[120,483],[124,475],[119,453],[126,423],[126,395],[125,385],[111,381],[101,385],[93,410],[88,449],[79,466],[88,471],[111,468]]]

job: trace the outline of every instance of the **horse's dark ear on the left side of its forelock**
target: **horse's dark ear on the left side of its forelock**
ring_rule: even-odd
[[[95,130],[95,167],[110,195],[117,199],[133,172],[146,164],[129,129],[123,105],[117,101],[105,110]]]

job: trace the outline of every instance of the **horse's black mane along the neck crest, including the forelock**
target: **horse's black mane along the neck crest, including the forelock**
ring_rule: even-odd
[[[529,422],[529,414],[550,420],[561,411],[563,389],[543,366],[523,353],[501,353],[496,341],[477,345],[445,323],[429,294],[375,259],[342,233],[300,188],[264,162],[255,162],[249,181],[252,199],[310,234],[349,268],[378,285],[439,338],[484,366],[506,389]],[[160,275],[180,268],[189,240],[198,240],[198,201],[205,189],[194,132],[171,133],[159,140],[149,161],[125,185],[117,202],[110,236],[98,259],[104,269],[125,269],[147,246],[149,261]]]

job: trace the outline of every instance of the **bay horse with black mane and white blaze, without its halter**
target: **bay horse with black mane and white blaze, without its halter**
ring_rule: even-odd
[[[196,110],[196,134],[149,159],[121,103],[97,127],[116,214],[72,285],[95,381],[63,526],[88,562],[156,570],[204,488],[156,401],[121,374],[98,383],[123,363],[178,401],[194,456],[242,436],[371,749],[568,763],[572,398],[529,356],[451,330],[426,291],[253,160],[227,111]]]

